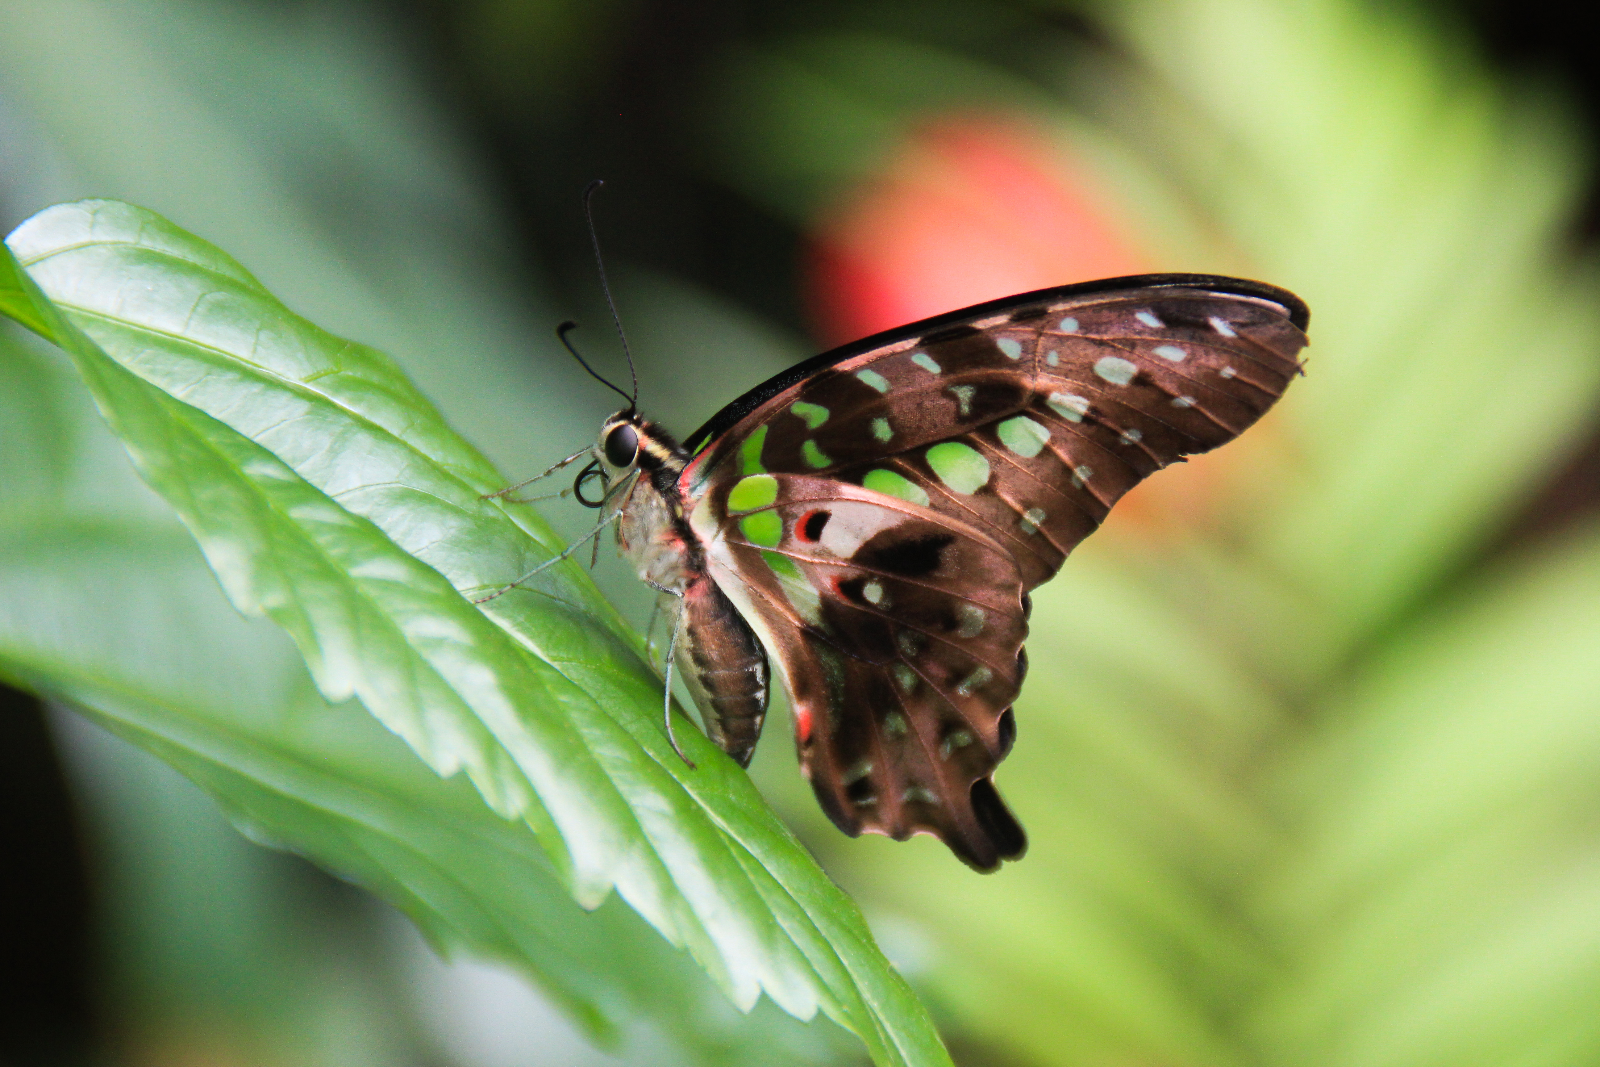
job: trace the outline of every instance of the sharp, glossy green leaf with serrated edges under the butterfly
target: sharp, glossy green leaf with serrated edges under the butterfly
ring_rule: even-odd
[[[72,355],[234,603],[278,622],[440,774],[533,827],[586,907],[610,888],[749,1008],[818,1006],[878,1062],[947,1062],[854,905],[704,737],[659,725],[638,640],[381,354],[283,309],[158,216],[85,202],[10,238],[13,317]],[[14,267],[13,267],[14,269]],[[18,301],[22,306],[16,306]]]

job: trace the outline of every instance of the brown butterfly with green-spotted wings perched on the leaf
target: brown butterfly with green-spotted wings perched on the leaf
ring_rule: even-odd
[[[610,509],[602,528],[675,606],[669,734],[677,664],[747,766],[771,661],[840,830],[933,833],[978,870],[1021,857],[994,773],[1029,590],[1146,475],[1266,414],[1307,323],[1294,294],[1238,278],[1040,290],[806,360],[682,443],[611,386],[629,405],[563,462],[590,458],[570,491]]]

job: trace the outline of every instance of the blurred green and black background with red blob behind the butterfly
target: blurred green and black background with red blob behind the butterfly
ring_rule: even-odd
[[[619,366],[578,210],[595,176],[643,403],[680,434],[824,344],[1117,264],[1293,288],[1310,365],[1280,411],[1141,488],[1035,597],[998,774],[1027,859],[979,878],[928,838],[842,838],[782,715],[754,773],[960,1064],[1600,1062],[1578,26],[1352,0],[0,18],[3,229],[85,195],[154,208],[392,352],[517,477],[610,410],[550,333],[581,318]],[[858,1062],[829,1024],[698,985],[678,1027],[640,1014],[598,1051],[74,710],[139,672],[242,718],[315,697],[70,376],[0,346],[0,1064]],[[626,571],[598,574],[643,624]],[[67,661],[82,689],[32,683]],[[640,944],[614,952],[680,974]]]

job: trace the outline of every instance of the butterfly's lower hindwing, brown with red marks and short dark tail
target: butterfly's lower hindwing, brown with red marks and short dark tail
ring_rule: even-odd
[[[1011,553],[931,509],[805,475],[742,477],[696,518],[714,579],[773,649],[834,822],[933,832],[981,869],[1019,854],[989,782],[1026,672]]]

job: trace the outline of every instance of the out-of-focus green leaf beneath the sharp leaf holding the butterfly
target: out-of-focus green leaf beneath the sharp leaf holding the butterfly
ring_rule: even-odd
[[[160,752],[251,837],[374,889],[442,952],[520,968],[597,1041],[632,1030],[629,1051],[675,1043],[707,1064],[843,1057],[832,1025],[770,1005],[741,1016],[619,901],[584,913],[525,824],[440,779],[358,705],[326,704],[286,635],[221,597],[48,355],[0,331],[13,472],[0,486],[0,677]],[[637,1033],[642,1021],[654,1032]]]

